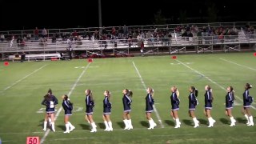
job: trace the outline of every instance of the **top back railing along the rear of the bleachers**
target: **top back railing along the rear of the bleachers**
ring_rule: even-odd
[[[166,25],[147,25],[147,26],[126,26],[126,32],[129,33],[130,31],[136,30],[136,31],[148,31],[148,30],[167,30],[167,31],[172,31],[176,30],[177,31],[178,27],[184,27],[186,28],[187,26],[194,27],[197,26],[199,30],[202,30],[203,27],[224,27],[224,28],[233,28],[236,27],[237,29],[240,29],[245,26],[256,26],[256,22],[214,22],[214,23],[181,23],[181,24],[166,24]],[[115,30],[118,31],[119,26],[108,26],[104,27],[106,30],[106,33],[111,33],[112,29],[115,28]],[[121,26],[120,28],[124,28],[124,26]],[[52,37],[54,34],[72,34],[74,31],[77,31],[78,34],[85,34],[89,33],[91,35],[94,34],[95,30],[98,30],[99,34],[102,34],[102,29],[103,27],[85,27],[85,28],[67,28],[67,29],[49,29],[47,30],[47,37]],[[85,31],[86,30],[86,31]],[[42,30],[39,30],[39,33]],[[97,32],[96,32],[97,33]],[[123,32],[125,33],[125,32]],[[6,39],[11,39],[12,36],[15,38],[25,36],[26,34],[30,34],[32,38],[34,38],[34,30],[7,30],[7,31],[0,31],[0,34],[4,34]]]

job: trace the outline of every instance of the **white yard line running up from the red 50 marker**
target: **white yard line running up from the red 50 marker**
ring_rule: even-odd
[[[88,69],[89,66],[90,66],[90,62],[87,64],[85,69],[82,70],[82,73],[79,75],[78,79],[74,82],[74,85],[72,86],[70,92],[67,94],[69,97],[72,94],[74,88],[78,85],[78,82],[82,78],[82,75],[85,74],[85,72],[86,72],[86,70]],[[55,115],[55,121],[57,120],[58,115],[61,113],[61,111],[62,111],[62,107],[60,109],[58,109],[57,114]],[[42,139],[40,141],[41,144],[46,140],[46,137],[48,136],[49,133],[50,133],[50,129],[46,130],[46,134],[43,135],[43,137],[42,137]]]

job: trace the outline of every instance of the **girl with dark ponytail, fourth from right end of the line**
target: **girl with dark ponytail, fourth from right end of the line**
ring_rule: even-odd
[[[190,117],[193,119],[194,121],[194,128],[199,126],[199,121],[198,119],[195,117],[194,111],[195,111],[195,107],[198,105],[198,90],[194,87],[194,86],[190,86],[190,95],[189,95],[189,114]]]

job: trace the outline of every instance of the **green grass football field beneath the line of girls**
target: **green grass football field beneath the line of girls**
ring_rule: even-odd
[[[2,143],[26,143],[26,137],[38,136],[43,143],[254,143],[256,126],[246,126],[243,117],[242,93],[249,82],[254,86],[250,95],[256,98],[256,57],[253,53],[233,54],[186,54],[133,58],[101,58],[94,62],[86,59],[55,62],[10,62],[0,63],[0,138]],[[212,116],[217,121],[208,128],[204,110],[204,86],[214,90]],[[155,107],[152,116],[158,126],[147,130],[145,117],[146,87],[154,88]],[[174,129],[170,117],[170,87],[178,86],[181,128]],[[189,87],[199,90],[196,115],[201,122],[196,129],[188,115]],[[236,95],[233,109],[236,126],[230,127],[225,115],[226,87],[234,86]],[[42,130],[45,106],[42,98],[51,88],[58,98],[57,110],[62,107],[62,94],[70,94],[74,113],[70,122],[76,129],[63,134],[66,129],[61,110],[55,122],[56,132]],[[134,130],[122,130],[122,90],[134,92],[131,118]],[[90,133],[84,120],[84,90],[93,90],[96,106],[94,121],[97,133]],[[114,131],[104,131],[102,101],[104,90],[110,90],[113,104],[111,120]],[[251,112],[256,116],[256,103]]]

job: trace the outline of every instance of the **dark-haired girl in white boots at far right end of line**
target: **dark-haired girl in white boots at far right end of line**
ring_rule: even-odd
[[[244,114],[244,116],[246,117],[247,120],[247,126],[254,126],[254,118],[250,113],[250,104],[251,104],[251,100],[252,97],[249,95],[249,90],[250,88],[252,88],[253,86],[251,86],[249,83],[246,83],[245,86],[245,92],[242,94],[243,97],[243,109],[242,109],[242,114]]]

